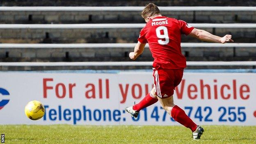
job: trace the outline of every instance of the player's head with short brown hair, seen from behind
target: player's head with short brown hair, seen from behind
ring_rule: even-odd
[[[153,4],[153,3],[149,3],[148,5],[146,5],[146,7],[144,7],[141,16],[142,18],[147,18],[150,16],[153,16],[155,14],[161,14],[160,10],[158,9],[158,7]]]

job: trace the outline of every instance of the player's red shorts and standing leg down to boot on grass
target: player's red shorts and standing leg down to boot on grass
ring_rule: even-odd
[[[170,114],[170,116],[181,123],[183,126],[190,128],[194,139],[200,139],[203,128],[197,126],[196,123],[187,116],[184,110],[174,104],[173,94],[174,88],[181,82],[183,69],[158,69],[155,70],[154,82],[155,93],[162,107]]]

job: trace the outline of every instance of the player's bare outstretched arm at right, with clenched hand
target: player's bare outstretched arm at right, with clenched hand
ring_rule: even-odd
[[[226,34],[224,37],[219,37],[211,34],[210,32],[206,32],[205,30],[199,30],[194,28],[190,34],[190,36],[200,39],[202,41],[215,42],[215,43],[227,43],[233,42],[231,39],[232,36],[230,34]]]

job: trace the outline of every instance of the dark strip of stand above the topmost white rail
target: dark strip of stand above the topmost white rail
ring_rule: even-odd
[[[1,0],[2,6],[256,6],[255,0]]]

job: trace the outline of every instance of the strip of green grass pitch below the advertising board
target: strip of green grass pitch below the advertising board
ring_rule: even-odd
[[[203,126],[200,140],[183,126],[0,125],[6,144],[256,144],[256,126]]]

